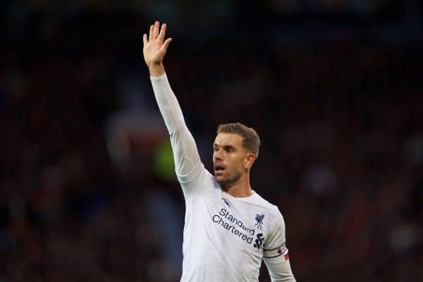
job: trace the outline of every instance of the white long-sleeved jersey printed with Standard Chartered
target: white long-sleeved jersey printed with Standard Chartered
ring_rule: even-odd
[[[276,205],[255,191],[235,198],[200,161],[166,75],[152,77],[185,198],[181,282],[258,281],[262,260],[272,281],[295,281],[288,261],[285,223]]]

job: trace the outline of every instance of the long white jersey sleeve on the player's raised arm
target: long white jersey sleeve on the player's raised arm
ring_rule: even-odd
[[[160,113],[168,129],[173,150],[173,160],[178,181],[183,190],[185,200],[195,196],[200,188],[199,181],[204,174],[204,165],[191,132],[185,124],[178,100],[173,94],[166,74],[150,77],[154,96]]]

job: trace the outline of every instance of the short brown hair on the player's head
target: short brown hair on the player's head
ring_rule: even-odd
[[[256,158],[259,156],[260,138],[259,134],[251,127],[246,127],[240,122],[220,124],[216,134],[233,133],[243,137],[243,147],[255,153]]]

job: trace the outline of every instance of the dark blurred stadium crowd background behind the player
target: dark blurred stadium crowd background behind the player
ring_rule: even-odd
[[[297,281],[423,281],[419,1],[6,0],[0,15],[1,282],[179,281],[185,208],[142,59],[156,19],[204,165],[218,124],[259,132],[252,187],[285,218]]]

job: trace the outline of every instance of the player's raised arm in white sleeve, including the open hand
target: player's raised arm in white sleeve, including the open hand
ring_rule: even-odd
[[[172,39],[164,40],[165,33],[166,24],[161,25],[161,28],[159,22],[151,25],[148,38],[147,34],[143,36],[144,48],[142,51],[149,69],[154,96],[171,136],[176,174],[182,184],[184,196],[188,198],[195,193],[196,185],[191,183],[200,174],[203,165],[192,134],[185,124],[178,100],[166,77],[163,59]]]

